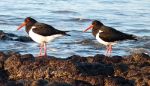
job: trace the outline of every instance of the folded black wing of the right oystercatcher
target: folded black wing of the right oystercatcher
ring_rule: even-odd
[[[105,30],[100,33],[99,37],[106,42],[115,42],[126,39],[133,39],[133,35],[122,33],[111,27],[104,27]]]

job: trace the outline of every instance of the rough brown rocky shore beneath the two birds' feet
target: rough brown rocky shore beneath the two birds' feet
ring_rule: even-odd
[[[0,52],[0,86],[150,86],[150,56],[62,59]]]

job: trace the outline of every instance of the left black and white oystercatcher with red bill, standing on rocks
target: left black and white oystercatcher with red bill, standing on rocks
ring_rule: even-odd
[[[67,31],[60,31],[52,27],[51,25],[40,23],[31,17],[25,18],[24,22],[18,27],[17,30],[26,26],[26,32],[37,43],[40,43],[40,53],[42,56],[42,50],[44,49],[44,56],[47,56],[46,43],[53,41],[61,36],[70,36]]]

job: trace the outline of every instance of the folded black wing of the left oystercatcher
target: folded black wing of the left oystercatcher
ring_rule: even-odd
[[[55,34],[62,34],[65,35],[65,31],[60,31],[52,27],[51,25],[44,24],[44,23],[35,23],[35,28],[33,28],[33,32],[40,34],[42,36],[51,36]]]

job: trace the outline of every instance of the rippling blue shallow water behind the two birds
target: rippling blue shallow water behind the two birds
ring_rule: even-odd
[[[99,44],[91,31],[82,31],[94,19],[125,33],[139,36],[138,41],[123,41],[113,47],[113,55],[150,51],[150,1],[149,0],[1,0],[0,30],[27,35],[24,29],[16,31],[25,17],[60,30],[70,31],[71,36],[61,37],[48,44],[48,54],[57,57],[70,55],[103,54],[105,46]],[[0,41],[0,50],[37,55],[37,43]]]

